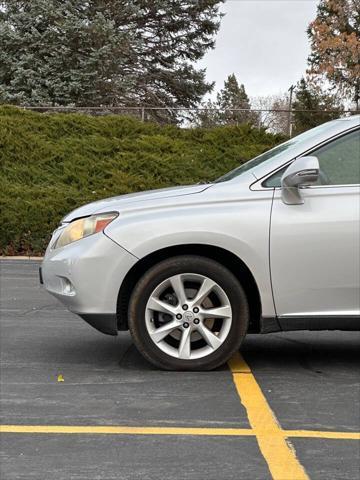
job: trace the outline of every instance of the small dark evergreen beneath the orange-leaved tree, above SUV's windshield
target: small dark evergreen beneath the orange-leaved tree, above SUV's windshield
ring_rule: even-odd
[[[343,107],[335,95],[319,92],[314,85],[302,78],[297,85],[293,109],[295,110],[293,112],[293,133],[297,135],[338,118]],[[327,113],[325,110],[333,111],[333,113]]]

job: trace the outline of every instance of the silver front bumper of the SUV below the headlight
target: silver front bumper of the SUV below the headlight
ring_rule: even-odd
[[[66,247],[48,248],[41,276],[46,290],[69,310],[103,333],[116,335],[120,286],[137,260],[98,233]]]

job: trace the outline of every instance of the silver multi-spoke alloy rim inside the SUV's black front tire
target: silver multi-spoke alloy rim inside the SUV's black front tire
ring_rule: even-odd
[[[192,360],[210,355],[226,340],[232,309],[211,278],[182,273],[161,282],[150,295],[145,325],[156,346],[172,357]]]

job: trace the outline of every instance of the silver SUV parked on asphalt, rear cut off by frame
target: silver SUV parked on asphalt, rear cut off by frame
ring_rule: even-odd
[[[213,369],[247,332],[358,330],[359,127],[326,123],[211,184],[74,210],[46,289],[166,369]]]

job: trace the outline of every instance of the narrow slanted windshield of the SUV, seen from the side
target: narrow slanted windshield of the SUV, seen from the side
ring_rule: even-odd
[[[302,142],[304,143],[308,142],[312,137],[315,137],[319,133],[331,128],[334,125],[334,122],[337,122],[337,120],[333,120],[332,122],[327,122],[318,127],[312,128],[311,130],[308,130],[307,132],[304,132],[298,135],[297,137],[294,137],[291,140],[288,140],[287,142],[282,143],[281,145],[278,145],[277,147],[272,148],[271,150],[268,150],[265,153],[262,153],[258,157],[255,157],[252,160],[249,160],[248,162],[243,163],[239,167],[236,167],[234,170],[231,170],[231,172],[228,172],[222,177],[218,178],[217,180],[215,180],[215,183],[232,180],[233,178],[238,177],[243,173],[248,172],[249,170],[252,170],[253,168],[260,165],[261,163],[274,160],[276,157],[280,156],[286,150],[291,150],[291,148],[293,147],[298,147]]]

